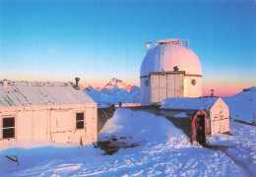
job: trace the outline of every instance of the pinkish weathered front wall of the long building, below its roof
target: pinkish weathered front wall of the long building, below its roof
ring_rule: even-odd
[[[76,113],[84,112],[84,129],[76,129]],[[56,143],[92,144],[97,141],[96,103],[53,110],[1,112],[0,142],[44,140]],[[3,139],[3,118],[15,117],[15,138]]]

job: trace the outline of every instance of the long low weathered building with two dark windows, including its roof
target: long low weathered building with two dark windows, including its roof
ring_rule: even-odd
[[[97,141],[96,102],[72,83],[0,83],[0,143]]]

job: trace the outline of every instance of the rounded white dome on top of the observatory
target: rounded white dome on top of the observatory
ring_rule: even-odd
[[[165,39],[166,40],[166,39]],[[202,68],[197,55],[181,42],[157,40],[159,43],[148,50],[141,66],[141,77],[150,72],[170,72],[177,66],[186,75],[202,75]]]

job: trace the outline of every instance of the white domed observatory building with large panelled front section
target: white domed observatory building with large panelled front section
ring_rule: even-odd
[[[168,97],[202,96],[202,68],[189,49],[188,39],[147,42],[140,75],[141,105],[156,104]]]

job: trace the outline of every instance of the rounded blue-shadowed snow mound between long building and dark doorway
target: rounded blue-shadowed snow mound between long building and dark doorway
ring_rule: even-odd
[[[174,148],[189,147],[188,137],[167,119],[144,111],[118,108],[98,135],[132,138],[129,143],[142,141],[164,143]]]

